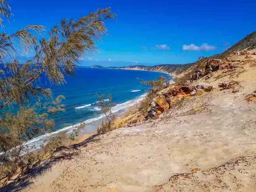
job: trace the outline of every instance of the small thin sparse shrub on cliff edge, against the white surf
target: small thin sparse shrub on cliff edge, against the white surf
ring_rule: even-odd
[[[102,121],[100,127],[98,127],[98,133],[104,133],[112,130],[115,116],[111,111],[111,107],[114,106],[114,104],[111,101],[111,94],[108,95],[106,99],[104,99],[104,94],[98,95],[98,108],[100,108],[100,110],[106,117],[106,121]]]

